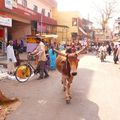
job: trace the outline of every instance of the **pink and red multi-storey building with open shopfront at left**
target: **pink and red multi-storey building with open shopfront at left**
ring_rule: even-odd
[[[0,43],[36,33],[56,33],[55,0],[0,0]],[[4,51],[4,50],[2,50]]]

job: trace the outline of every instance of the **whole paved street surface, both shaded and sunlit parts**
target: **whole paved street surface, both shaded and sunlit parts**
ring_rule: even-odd
[[[0,88],[9,97],[18,97],[21,106],[7,120],[120,120],[120,69],[112,58],[101,63],[86,55],[81,58],[78,75],[72,84],[72,101],[64,100],[60,74],[21,84],[14,80],[0,81]]]

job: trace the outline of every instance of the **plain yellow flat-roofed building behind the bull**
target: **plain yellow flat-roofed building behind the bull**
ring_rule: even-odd
[[[61,42],[71,41],[71,37],[78,33],[78,19],[80,13],[76,11],[59,11],[55,19],[57,20],[57,34]]]

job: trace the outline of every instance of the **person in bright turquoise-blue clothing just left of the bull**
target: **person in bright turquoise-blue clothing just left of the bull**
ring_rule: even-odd
[[[48,53],[49,53],[49,60],[50,60],[50,69],[55,70],[56,69],[56,53],[53,50],[53,46],[51,46]]]

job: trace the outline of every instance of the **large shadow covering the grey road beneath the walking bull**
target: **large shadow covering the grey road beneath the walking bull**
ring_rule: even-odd
[[[80,68],[72,83],[71,104],[66,104],[61,84],[61,74],[51,73],[49,79],[33,80],[20,84],[15,81],[1,82],[10,96],[23,102],[21,107],[8,116],[8,120],[100,120],[99,106],[88,99],[94,71]]]

